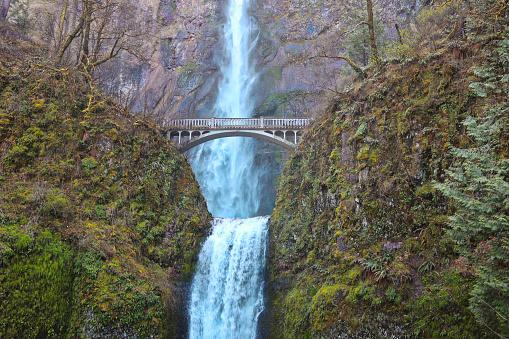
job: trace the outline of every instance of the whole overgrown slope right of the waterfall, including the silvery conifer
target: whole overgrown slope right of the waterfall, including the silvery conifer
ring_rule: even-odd
[[[465,36],[451,21],[354,83],[286,165],[272,337],[509,335],[509,33],[502,17],[482,24],[497,1],[449,5],[418,30],[462,13]]]

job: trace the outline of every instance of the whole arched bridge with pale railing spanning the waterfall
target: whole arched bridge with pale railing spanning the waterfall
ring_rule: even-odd
[[[252,137],[284,147],[295,148],[308,118],[209,118],[170,120],[164,131],[183,153],[207,141],[229,137]]]

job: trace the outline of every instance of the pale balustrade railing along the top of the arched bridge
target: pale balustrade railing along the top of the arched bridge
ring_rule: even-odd
[[[311,120],[307,118],[209,118],[177,119],[164,124],[167,129],[304,129]]]

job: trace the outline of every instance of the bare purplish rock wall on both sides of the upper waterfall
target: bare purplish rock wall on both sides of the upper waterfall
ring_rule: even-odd
[[[110,93],[157,121],[210,114],[217,93],[221,28],[226,0],[142,1],[137,6],[154,37],[141,63],[124,56],[102,68],[99,78]],[[333,58],[349,53],[368,63],[368,56],[348,50],[352,39],[367,45],[363,2],[326,0],[256,0],[252,14],[258,28],[253,58],[259,71],[255,113],[301,116],[323,112],[351,71]],[[415,0],[378,3],[380,36],[394,36],[394,23],[407,23],[420,4]],[[352,14],[353,13],[353,14]],[[351,49],[351,48],[350,48]]]

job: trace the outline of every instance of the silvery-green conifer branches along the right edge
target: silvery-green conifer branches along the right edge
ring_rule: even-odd
[[[483,81],[470,88],[477,96],[507,90],[509,34],[498,54],[496,65],[476,71]],[[509,159],[501,148],[509,123],[505,99],[484,116],[464,121],[472,145],[452,148],[454,164],[445,182],[437,185],[456,207],[449,234],[476,272],[470,309],[477,321],[500,335],[509,335]]]

